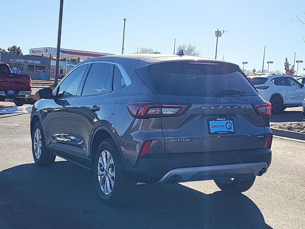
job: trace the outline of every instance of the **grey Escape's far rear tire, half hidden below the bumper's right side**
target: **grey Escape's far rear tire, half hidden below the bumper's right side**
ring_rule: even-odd
[[[235,177],[214,180],[215,184],[225,192],[241,193],[249,190],[255,181],[255,176]]]

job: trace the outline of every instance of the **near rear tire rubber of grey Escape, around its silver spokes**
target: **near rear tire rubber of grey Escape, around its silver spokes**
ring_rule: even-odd
[[[102,164],[99,163],[99,158],[102,154],[102,152],[108,151],[110,153],[110,156],[113,159],[113,167],[115,168],[115,177],[113,179],[114,184],[112,187],[112,191],[109,192],[109,194],[105,194],[104,191],[102,191],[102,187],[99,183],[99,177],[102,178],[103,176],[98,176],[98,168]],[[110,168],[110,166],[109,166]],[[109,170],[108,168],[108,170]],[[113,143],[113,140],[108,138],[102,141],[102,143],[99,145],[96,153],[95,153],[95,160],[94,160],[94,168],[93,168],[93,174],[94,174],[94,185],[97,191],[97,194],[99,198],[102,200],[103,203],[120,207],[123,205],[126,205],[131,199],[133,190],[136,186],[136,182],[133,181],[129,176],[126,175],[126,172],[124,170],[120,155],[118,153],[117,147]],[[107,170],[107,169],[106,169]],[[110,168],[110,171],[113,170]],[[103,170],[100,170],[103,171]],[[110,172],[109,172],[110,173]],[[100,173],[101,174],[101,173]],[[106,174],[108,175],[108,174]],[[106,177],[106,176],[104,176]],[[104,184],[104,178],[101,179],[102,184]],[[109,180],[109,184],[110,184]],[[105,190],[105,186],[104,186]]]

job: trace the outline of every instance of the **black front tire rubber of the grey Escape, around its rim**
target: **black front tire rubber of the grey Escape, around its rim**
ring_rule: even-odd
[[[41,134],[41,152],[40,155],[35,151],[34,146],[34,138],[35,138],[35,132],[39,130]],[[50,151],[47,150],[45,147],[45,136],[43,135],[42,127],[40,122],[36,122],[32,131],[32,154],[34,158],[34,162],[38,166],[50,166],[54,163],[56,155],[52,154]],[[37,155],[38,154],[38,155]]]

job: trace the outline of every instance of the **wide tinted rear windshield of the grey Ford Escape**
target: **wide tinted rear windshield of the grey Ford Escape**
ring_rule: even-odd
[[[253,96],[256,90],[232,64],[164,62],[136,69],[153,92],[180,96]]]

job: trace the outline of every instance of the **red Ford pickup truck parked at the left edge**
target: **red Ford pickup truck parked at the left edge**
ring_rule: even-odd
[[[16,106],[22,106],[31,93],[30,75],[12,73],[8,64],[0,63],[0,101],[13,99]]]

